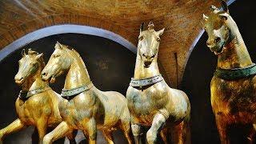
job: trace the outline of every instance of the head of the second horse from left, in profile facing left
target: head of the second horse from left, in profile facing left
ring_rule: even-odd
[[[51,54],[46,67],[42,70],[42,79],[50,82],[55,82],[55,78],[63,74],[65,70],[68,70],[71,65],[70,54],[66,52],[68,46],[62,45],[57,42],[54,46],[54,53]]]

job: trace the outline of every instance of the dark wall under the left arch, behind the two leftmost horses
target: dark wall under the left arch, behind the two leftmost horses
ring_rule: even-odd
[[[119,45],[117,42],[106,38],[85,34],[58,34],[31,42],[24,48],[31,48],[44,54],[45,62],[54,51],[56,42],[61,42],[74,47],[81,54],[89,71],[94,85],[100,90],[115,90],[126,95],[130,78],[134,75],[136,54]],[[0,81],[0,127],[3,128],[13,122],[16,116],[14,102],[18,97],[20,88],[14,83],[14,75],[18,72],[18,60],[21,58],[22,48],[14,51],[1,63],[2,75]],[[50,86],[58,93],[61,92],[65,77],[57,78]],[[6,137],[5,143],[31,143],[30,135],[33,128],[22,130]],[[114,140],[118,143],[126,143],[126,139],[120,132],[114,134]],[[105,143],[102,134],[98,134],[98,142]]]

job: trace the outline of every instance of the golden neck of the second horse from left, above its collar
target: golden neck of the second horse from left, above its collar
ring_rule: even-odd
[[[86,69],[86,65],[82,61],[82,58],[78,54],[75,54],[73,51],[72,55],[72,63],[70,65],[70,70],[66,74],[66,80],[64,89],[70,90],[77,88],[79,86],[85,86],[90,82],[90,76]]]

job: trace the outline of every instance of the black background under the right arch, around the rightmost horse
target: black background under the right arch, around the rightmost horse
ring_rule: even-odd
[[[250,57],[256,62],[256,9],[255,1],[236,1],[230,15],[237,22]],[[210,106],[210,80],[217,65],[217,57],[206,46],[206,33],[194,47],[186,65],[182,90],[190,97],[192,143],[220,143],[214,114]],[[230,126],[231,143],[246,143],[244,137],[249,126]]]

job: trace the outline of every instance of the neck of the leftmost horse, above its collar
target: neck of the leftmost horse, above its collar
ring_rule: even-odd
[[[41,72],[43,69],[43,64],[40,64],[38,70],[26,78],[25,82],[22,84],[23,91],[36,90],[38,88],[48,86],[48,82],[42,81]]]

